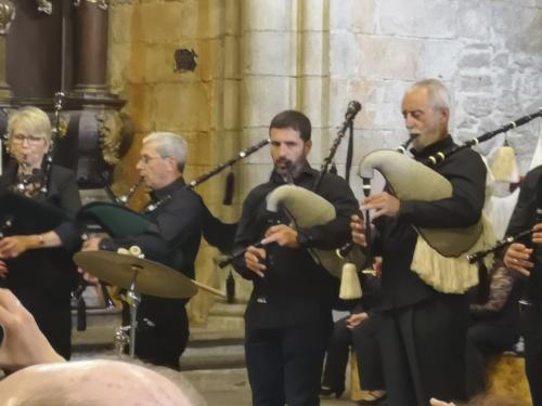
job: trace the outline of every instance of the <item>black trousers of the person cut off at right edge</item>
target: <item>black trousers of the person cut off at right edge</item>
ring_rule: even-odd
[[[521,312],[525,339],[525,369],[533,406],[542,406],[542,309],[526,306]]]

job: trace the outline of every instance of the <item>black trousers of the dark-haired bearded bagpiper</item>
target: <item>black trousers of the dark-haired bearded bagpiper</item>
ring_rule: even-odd
[[[251,329],[245,357],[254,406],[318,406],[320,377],[333,325]]]

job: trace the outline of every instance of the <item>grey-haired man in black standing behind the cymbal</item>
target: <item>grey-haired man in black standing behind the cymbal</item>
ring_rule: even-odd
[[[83,250],[116,251],[138,246],[146,259],[194,278],[204,205],[197,194],[185,187],[182,178],[186,150],[186,141],[178,134],[153,132],[145,136],[136,169],[151,189],[151,202],[144,213],[156,227],[127,238],[92,237],[85,243]],[[136,354],[140,358],[179,369],[179,357],[189,339],[186,302],[188,299],[142,294],[136,340]]]

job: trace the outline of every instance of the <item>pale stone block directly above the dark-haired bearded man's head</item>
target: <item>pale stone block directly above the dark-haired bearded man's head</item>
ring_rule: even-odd
[[[291,108],[294,93],[288,77],[245,77],[242,95],[245,126],[268,126],[276,113]]]

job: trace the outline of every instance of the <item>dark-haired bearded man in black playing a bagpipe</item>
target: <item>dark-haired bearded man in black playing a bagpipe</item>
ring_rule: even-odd
[[[307,249],[335,249],[345,244],[349,217],[358,205],[348,184],[334,174],[324,174],[314,191],[319,172],[307,161],[312,146],[311,125],[304,114],[280,113],[269,132],[274,170],[268,182],[247,196],[235,237],[237,249],[247,248],[234,266],[254,283],[245,314],[253,404],[319,405],[338,279],[318,265]],[[266,210],[268,194],[285,183],[325,198],[335,207],[336,218],[313,227],[286,225],[285,213]]]

